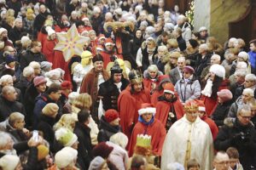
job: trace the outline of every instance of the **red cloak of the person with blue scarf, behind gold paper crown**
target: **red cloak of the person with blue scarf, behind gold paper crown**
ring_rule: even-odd
[[[163,124],[159,120],[154,119],[154,122],[152,122],[148,126],[143,124],[142,122],[136,123],[131,134],[131,139],[129,144],[129,156],[133,155],[133,150],[134,150],[134,147],[136,146],[138,134],[150,135],[153,153],[157,156],[161,156],[162,147],[166,138],[166,128],[163,126]]]

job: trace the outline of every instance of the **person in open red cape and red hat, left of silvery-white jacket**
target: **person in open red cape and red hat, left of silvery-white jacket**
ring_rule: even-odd
[[[163,123],[166,130],[169,130],[174,122],[183,117],[183,105],[174,94],[174,88],[171,83],[166,83],[164,94],[158,100],[155,106],[155,118]]]

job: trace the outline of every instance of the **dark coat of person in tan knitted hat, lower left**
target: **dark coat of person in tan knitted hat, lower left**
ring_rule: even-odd
[[[44,139],[49,142],[50,150],[54,151],[54,140],[55,140],[55,132],[53,130],[53,126],[55,125],[55,118],[40,115],[37,129],[44,133]]]

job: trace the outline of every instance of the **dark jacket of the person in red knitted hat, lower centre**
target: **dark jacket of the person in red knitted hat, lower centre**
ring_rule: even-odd
[[[109,122],[106,121],[105,117],[102,116],[101,122],[100,122],[100,132],[98,133],[98,142],[106,142],[109,141],[110,137],[115,134],[119,133],[121,131],[121,128],[119,126],[113,127],[109,124]]]

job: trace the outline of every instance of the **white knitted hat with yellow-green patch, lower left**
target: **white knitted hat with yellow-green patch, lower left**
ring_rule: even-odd
[[[78,140],[77,135],[65,127],[61,127],[55,132],[55,138],[63,146],[72,146]]]

